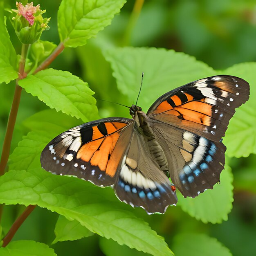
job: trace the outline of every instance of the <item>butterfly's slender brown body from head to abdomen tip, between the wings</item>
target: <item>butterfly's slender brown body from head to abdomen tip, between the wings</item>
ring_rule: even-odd
[[[150,118],[145,112],[141,110],[141,107],[132,105],[130,108],[130,115],[135,120],[136,130],[144,137],[150,155],[155,160],[160,170],[168,171],[168,163],[162,147],[159,145],[155,134],[151,128]],[[150,125],[151,124],[151,125]]]

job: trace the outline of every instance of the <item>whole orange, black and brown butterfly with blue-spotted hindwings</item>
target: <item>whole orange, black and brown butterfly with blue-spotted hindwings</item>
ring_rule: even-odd
[[[103,118],[61,133],[44,148],[41,165],[112,186],[119,200],[164,213],[177,203],[176,187],[195,198],[220,182],[222,137],[248,99],[249,84],[241,78],[200,79],[162,95],[147,113],[132,105],[132,119]]]

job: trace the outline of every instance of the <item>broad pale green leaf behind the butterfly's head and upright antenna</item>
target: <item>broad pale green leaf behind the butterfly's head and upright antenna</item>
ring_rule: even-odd
[[[144,72],[138,104],[146,111],[162,94],[216,72],[194,57],[173,50],[124,47],[110,49],[104,55],[129,106],[136,101]]]

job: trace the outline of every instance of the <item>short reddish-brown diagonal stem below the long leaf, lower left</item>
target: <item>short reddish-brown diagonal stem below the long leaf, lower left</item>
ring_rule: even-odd
[[[26,218],[29,216],[29,214],[36,208],[36,205],[29,205],[25,211],[23,211],[21,213],[21,215],[17,218],[17,220],[15,220],[15,222],[13,223],[13,225],[11,226],[10,230],[8,231],[8,233],[6,234],[6,236],[4,237],[3,244],[2,247],[6,247],[11,239],[13,238],[13,236],[16,234],[17,230],[19,229],[19,227],[21,226],[21,224],[26,220]]]

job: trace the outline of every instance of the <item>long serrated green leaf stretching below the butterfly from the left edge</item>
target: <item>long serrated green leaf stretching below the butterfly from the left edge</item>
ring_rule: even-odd
[[[76,191],[76,193],[74,193]],[[111,193],[110,193],[111,192]],[[88,196],[85,196],[88,195]],[[89,196],[90,195],[90,196]],[[0,203],[37,204],[77,220],[90,231],[153,255],[172,255],[164,239],[117,202],[111,188],[101,189],[75,177],[42,169],[9,171],[0,177]]]

